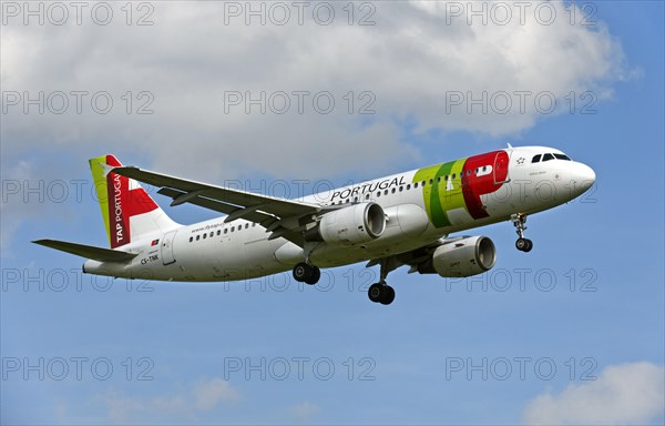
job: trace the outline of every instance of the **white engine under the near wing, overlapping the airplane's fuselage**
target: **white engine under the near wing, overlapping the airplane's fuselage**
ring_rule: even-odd
[[[360,244],[378,239],[386,230],[386,214],[377,203],[360,203],[326,213],[318,234],[326,243]]]

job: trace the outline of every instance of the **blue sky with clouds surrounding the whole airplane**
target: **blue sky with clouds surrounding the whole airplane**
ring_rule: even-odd
[[[665,422],[662,2],[580,3],[592,28],[447,24],[451,3],[434,2],[368,2],[354,22],[375,10],[371,27],[348,26],[340,9],[331,26],[305,14],[279,27],[234,21],[218,2],[147,4],[132,20],[152,11],[150,27],[127,26],[120,9],[110,26],[2,22],[2,423]],[[329,91],[338,103],[331,114],[224,112],[229,91],[262,90]],[[555,93],[565,111],[440,103],[515,90]],[[116,109],[24,113],[8,97],[25,91],[105,91]],[[349,91],[372,92],[376,113],[348,113]],[[140,92],[153,114],[136,113],[151,99]],[[311,189],[507,142],[561,149],[596,184],[530,217],[529,254],[510,223],[470,231],[497,244],[488,274],[391,273],[389,307],[367,300],[378,271],[361,264],[317,287],[288,274],[109,282],[30,244],[106,244],[86,163],[103,153],[214,183]],[[155,200],[182,223],[213,216]]]

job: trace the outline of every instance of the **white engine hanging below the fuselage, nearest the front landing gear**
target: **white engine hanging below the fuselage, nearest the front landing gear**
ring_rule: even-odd
[[[497,263],[497,248],[487,236],[469,236],[437,247],[432,266],[444,278],[481,274]]]

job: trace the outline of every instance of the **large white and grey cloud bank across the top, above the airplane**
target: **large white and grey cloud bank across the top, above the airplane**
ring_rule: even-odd
[[[550,24],[539,23],[531,8],[524,24],[513,10],[515,17],[505,26],[451,19],[448,2],[368,2],[376,8],[369,17],[375,26],[357,24],[370,10],[355,10],[349,26],[346,3],[335,3],[330,26],[316,23],[313,6],[303,26],[296,10],[285,26],[269,19],[265,26],[256,19],[246,26],[243,17],[225,24],[226,2],[151,4],[152,27],[124,24],[121,10],[106,27],[10,20],[1,41],[3,90],[32,95],[40,90],[106,91],[114,109],[102,115],[88,105],[76,114],[70,113],[72,105],[62,115],[24,115],[12,106],[3,144],[30,148],[49,141],[91,154],[136,150],[155,168],[208,181],[256,171],[288,178],[339,175],[360,168],[369,173],[418,155],[402,140],[406,121],[417,132],[513,134],[546,116],[535,110],[533,95],[519,111],[513,92],[551,92],[565,109],[563,98],[571,91],[608,97],[624,77],[618,42],[602,23],[571,24],[562,1],[550,2],[557,17]],[[150,106],[155,113],[127,115],[121,99],[126,91],[134,97],[153,93]],[[290,95],[294,104],[285,114],[269,109],[246,114],[242,105],[225,113],[228,91],[255,97],[262,91],[268,97],[276,91],[328,91],[336,105],[329,114],[317,113],[310,95],[299,114],[297,98]],[[344,98],[349,91],[356,98],[352,114]],[[372,92],[376,100],[358,99],[361,91]],[[505,114],[483,114],[478,108],[470,114],[467,102],[451,106],[451,92],[507,92],[515,104]],[[144,101],[135,99],[133,110]],[[365,102],[376,114],[356,113]]]

